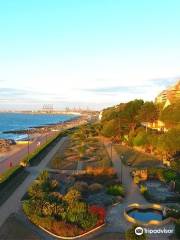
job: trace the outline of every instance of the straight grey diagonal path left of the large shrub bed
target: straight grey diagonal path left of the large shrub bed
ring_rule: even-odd
[[[8,200],[0,207],[0,226],[8,218],[8,216],[13,212],[18,212],[20,209],[21,198],[27,191],[27,188],[31,182],[37,178],[39,172],[46,168],[48,162],[56,154],[60,147],[63,147],[67,137],[62,138],[56,146],[47,154],[47,156],[40,162],[37,167],[33,167],[30,171],[30,175],[25,179],[25,181],[16,189],[16,191],[8,198]]]

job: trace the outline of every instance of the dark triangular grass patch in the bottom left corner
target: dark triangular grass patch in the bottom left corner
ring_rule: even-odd
[[[28,225],[19,220],[15,214],[9,216],[0,228],[2,240],[40,240]]]

